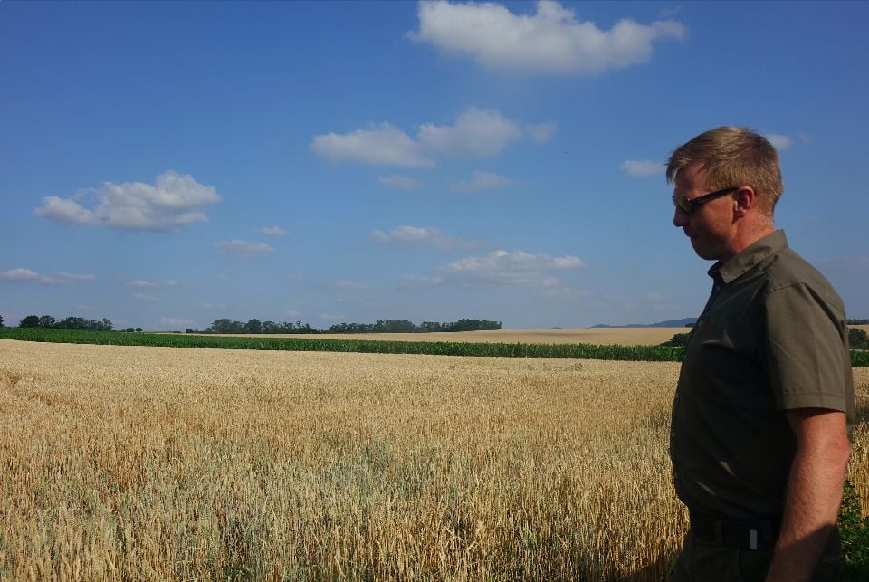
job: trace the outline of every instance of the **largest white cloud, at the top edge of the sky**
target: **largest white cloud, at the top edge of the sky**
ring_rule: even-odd
[[[610,30],[558,2],[540,0],[533,15],[513,14],[494,3],[419,3],[419,30],[408,36],[441,52],[470,56],[486,69],[526,74],[572,75],[604,72],[649,62],[653,43],[682,40],[683,24],[673,20],[639,24],[618,21]]]

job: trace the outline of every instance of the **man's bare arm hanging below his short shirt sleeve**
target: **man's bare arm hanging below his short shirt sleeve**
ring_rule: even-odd
[[[781,532],[767,581],[810,580],[842,502],[848,444],[845,413],[823,408],[785,412],[797,436]]]

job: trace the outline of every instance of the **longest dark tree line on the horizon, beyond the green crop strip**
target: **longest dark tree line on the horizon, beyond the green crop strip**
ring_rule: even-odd
[[[246,323],[236,320],[215,320],[210,326],[197,331],[186,329],[186,333],[429,333],[433,331],[480,331],[485,329],[503,329],[501,321],[489,320],[458,320],[458,321],[423,321],[415,325],[408,320],[377,320],[376,323],[336,323],[329,329],[315,329],[310,323],[301,321],[275,323],[274,321],[248,320]]]

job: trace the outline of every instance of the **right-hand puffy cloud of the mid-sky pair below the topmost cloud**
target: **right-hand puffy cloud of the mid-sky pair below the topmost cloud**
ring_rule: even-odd
[[[523,137],[522,129],[498,111],[469,108],[451,126],[425,123],[419,143],[425,149],[450,157],[492,157],[511,141]]]

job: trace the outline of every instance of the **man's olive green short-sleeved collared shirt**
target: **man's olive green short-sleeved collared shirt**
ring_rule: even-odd
[[[797,451],[783,411],[826,408],[854,422],[845,307],[783,231],[709,274],[673,401],[676,493],[709,518],[776,518]]]

